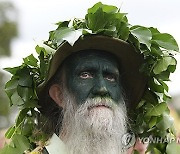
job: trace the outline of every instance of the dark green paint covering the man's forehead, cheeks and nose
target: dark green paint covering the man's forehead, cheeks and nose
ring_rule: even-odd
[[[65,61],[67,89],[77,104],[87,98],[122,99],[119,64],[113,55],[97,50],[79,51]]]

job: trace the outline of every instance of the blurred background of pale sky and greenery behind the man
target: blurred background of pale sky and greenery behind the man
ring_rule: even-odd
[[[87,8],[97,0],[0,0],[0,131],[9,127],[17,114],[9,109],[4,85],[10,74],[3,68],[18,66],[22,58],[35,53],[35,46],[48,39],[49,31],[58,21],[73,17],[84,18]],[[128,13],[129,23],[157,27],[162,33],[170,33],[180,46],[180,1],[179,0],[101,0],[116,5]],[[177,70],[168,83],[172,115],[180,130],[180,55]],[[0,147],[1,147],[0,133]]]

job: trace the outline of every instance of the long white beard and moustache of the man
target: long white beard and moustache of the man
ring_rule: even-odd
[[[125,153],[122,144],[122,136],[127,133],[124,102],[116,105],[109,98],[93,98],[75,107],[73,97],[67,94],[65,98],[60,138],[67,146],[68,154]],[[96,105],[109,108],[92,107]]]

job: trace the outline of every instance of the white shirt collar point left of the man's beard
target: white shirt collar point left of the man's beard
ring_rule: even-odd
[[[49,144],[45,146],[49,154],[67,154],[67,149],[62,140],[53,134],[49,140]]]

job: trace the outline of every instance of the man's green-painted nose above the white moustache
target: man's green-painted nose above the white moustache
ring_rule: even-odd
[[[93,87],[92,93],[95,96],[109,96],[107,85],[104,79],[100,78],[99,80],[97,80]]]

